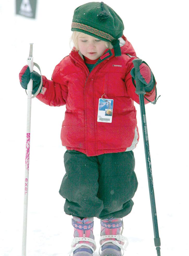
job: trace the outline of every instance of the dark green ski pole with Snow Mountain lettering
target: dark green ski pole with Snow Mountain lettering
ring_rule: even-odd
[[[142,64],[142,60],[134,59],[132,62],[135,68],[135,81],[136,81],[135,93],[138,94],[139,96],[139,103],[140,103],[140,110],[141,110],[144,150],[145,150],[146,167],[147,167],[147,175],[148,175],[148,186],[149,186],[149,193],[150,193],[152,221],[153,221],[153,228],[154,228],[154,243],[157,250],[157,255],[160,256],[161,242],[160,242],[158,224],[157,224],[157,213],[156,213],[154,185],[153,185],[152,169],[151,169],[150,148],[149,148],[148,130],[147,130],[147,122],[146,122],[146,113],[145,113],[145,106],[144,106],[144,95],[146,94],[146,92],[144,90],[143,83],[138,79],[138,76],[137,76],[137,72],[138,72],[139,66]]]

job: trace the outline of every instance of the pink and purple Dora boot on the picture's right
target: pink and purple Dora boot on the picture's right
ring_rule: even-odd
[[[99,254],[101,256],[123,256],[124,250],[126,249],[129,243],[127,238],[121,235],[123,232],[123,220],[121,220],[120,218],[104,219],[100,221],[100,224],[101,253],[99,249]],[[125,240],[127,241],[127,243],[124,245]],[[123,254],[121,253],[121,250],[123,251]]]

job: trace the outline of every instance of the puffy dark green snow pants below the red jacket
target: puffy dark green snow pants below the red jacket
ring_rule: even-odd
[[[131,212],[138,182],[132,151],[90,156],[67,150],[59,193],[66,214],[80,218],[123,218]]]

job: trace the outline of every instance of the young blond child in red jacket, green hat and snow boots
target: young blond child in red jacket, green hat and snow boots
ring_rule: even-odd
[[[66,104],[61,140],[66,147],[59,193],[64,211],[72,215],[75,256],[91,256],[96,244],[93,218],[101,220],[101,255],[120,256],[124,237],[122,219],[131,212],[137,190],[133,149],[139,135],[133,101],[136,53],[123,35],[121,18],[103,2],[90,2],[74,11],[71,30],[74,47],[55,67],[52,79],[43,78],[36,96],[50,106]],[[40,75],[26,65],[20,83],[33,94]],[[145,103],[156,97],[156,82],[148,65],[138,70]],[[108,99],[108,100],[107,100]]]

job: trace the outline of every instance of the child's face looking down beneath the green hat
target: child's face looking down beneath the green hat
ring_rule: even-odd
[[[78,47],[80,52],[90,60],[98,59],[107,48],[105,41],[87,34],[85,37],[78,37]]]

